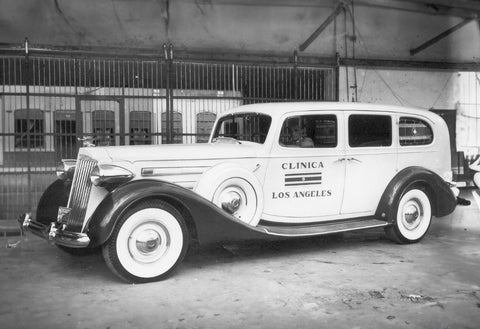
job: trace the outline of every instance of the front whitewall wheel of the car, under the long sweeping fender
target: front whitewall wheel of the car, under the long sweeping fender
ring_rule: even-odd
[[[113,273],[141,283],[166,278],[187,247],[188,230],[180,212],[164,201],[150,200],[122,216],[102,251]]]

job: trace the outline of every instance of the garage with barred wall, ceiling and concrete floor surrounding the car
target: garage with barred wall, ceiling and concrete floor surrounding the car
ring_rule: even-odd
[[[480,3],[474,0],[3,0],[0,322],[6,328],[476,328]],[[11,223],[62,158],[96,145],[206,142],[243,104],[419,107],[450,130],[471,201],[420,243],[381,231],[190,251],[126,285]],[[13,225],[13,224],[12,224]],[[12,231],[12,232],[10,232]]]

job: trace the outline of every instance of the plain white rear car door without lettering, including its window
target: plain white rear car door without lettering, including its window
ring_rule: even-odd
[[[395,116],[346,112],[346,175],[341,213],[372,215],[396,174],[398,132]]]

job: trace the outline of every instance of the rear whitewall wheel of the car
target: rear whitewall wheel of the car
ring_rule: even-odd
[[[398,202],[393,225],[385,228],[387,237],[397,243],[420,241],[432,222],[432,206],[424,191],[411,189]]]

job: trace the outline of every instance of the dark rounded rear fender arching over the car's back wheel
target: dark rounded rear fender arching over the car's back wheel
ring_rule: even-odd
[[[408,167],[400,171],[388,184],[377,207],[376,218],[393,223],[396,219],[396,205],[402,194],[415,185],[426,189],[431,198],[434,216],[446,216],[455,210],[457,199],[440,176],[422,167]]]

